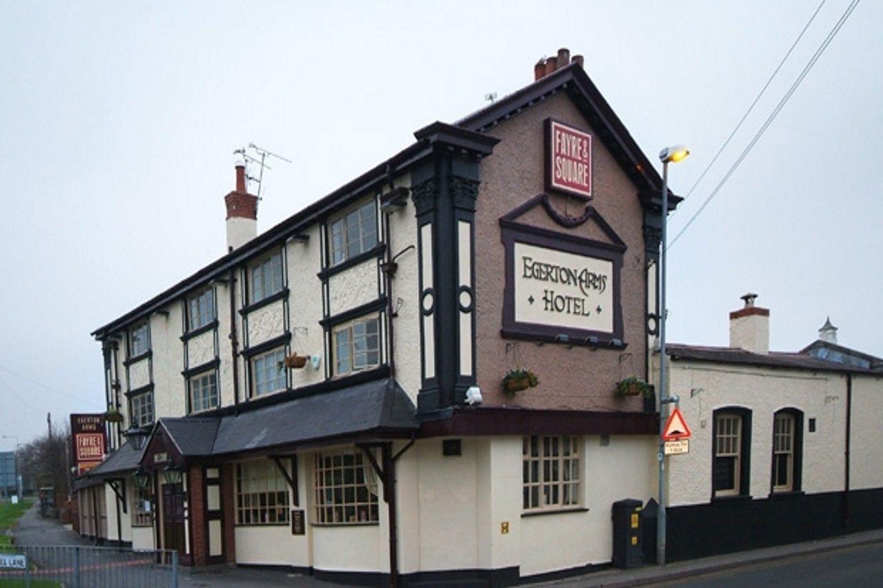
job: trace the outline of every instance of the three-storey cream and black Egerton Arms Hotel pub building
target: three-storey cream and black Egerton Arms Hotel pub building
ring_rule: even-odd
[[[124,417],[77,482],[100,539],[356,584],[615,560],[614,503],[657,488],[630,383],[661,178],[567,49],[414,137],[260,234],[238,164],[228,253],[94,331]]]

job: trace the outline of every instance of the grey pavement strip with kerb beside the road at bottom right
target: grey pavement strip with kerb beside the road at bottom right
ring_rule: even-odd
[[[864,533],[863,533],[864,535]],[[726,554],[732,559],[727,562],[714,562],[712,557],[707,558],[707,562],[686,561],[670,564],[672,568],[639,568],[634,570],[617,570],[607,578],[602,577],[573,577],[567,580],[560,580],[554,584],[569,584],[571,582],[585,581],[586,586],[597,586],[603,588],[629,588],[631,586],[644,586],[647,584],[659,584],[660,582],[671,582],[681,580],[687,577],[704,576],[716,572],[726,571],[728,569],[742,568],[744,566],[753,566],[767,562],[775,562],[778,560],[787,560],[793,557],[802,557],[805,555],[823,554],[826,552],[837,551],[838,549],[847,549],[849,547],[860,547],[871,545],[873,543],[883,542],[883,533],[876,533],[872,537],[857,537],[853,540],[849,536],[838,537],[836,539],[822,539],[829,541],[825,545],[819,545],[818,542],[800,543],[794,545],[768,547],[766,549],[758,549],[754,551],[741,552],[738,554]],[[768,553],[769,549],[777,549],[775,554]],[[758,553],[767,552],[767,553]],[[741,557],[740,557],[741,556]],[[721,556],[718,556],[721,557]],[[675,566],[678,566],[675,568]],[[684,567],[680,567],[684,566]],[[603,572],[601,572],[603,573]],[[543,584],[539,584],[543,585]]]

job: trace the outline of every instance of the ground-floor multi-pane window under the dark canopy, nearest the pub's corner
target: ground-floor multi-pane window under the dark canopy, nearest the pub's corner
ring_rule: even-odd
[[[316,523],[370,524],[380,520],[377,476],[358,451],[316,454]]]

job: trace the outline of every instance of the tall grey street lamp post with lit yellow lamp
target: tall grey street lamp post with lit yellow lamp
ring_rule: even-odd
[[[662,162],[662,238],[660,243],[660,439],[659,439],[659,476],[660,504],[656,518],[656,563],[665,565],[665,422],[668,419],[668,403],[677,402],[677,396],[668,396],[668,385],[665,377],[665,321],[666,321],[666,251],[668,245],[668,164],[682,161],[690,155],[687,147],[678,145],[666,147],[660,151]]]

